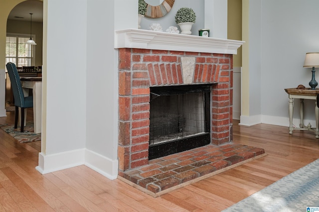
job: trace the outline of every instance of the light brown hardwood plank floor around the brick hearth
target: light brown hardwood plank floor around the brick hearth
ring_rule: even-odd
[[[14,112],[7,114],[0,124],[13,123]],[[35,170],[40,142],[20,144],[0,130],[0,211],[221,211],[319,158],[313,132],[290,135],[287,127],[234,122],[235,143],[268,155],[159,198],[86,166],[41,175]]]

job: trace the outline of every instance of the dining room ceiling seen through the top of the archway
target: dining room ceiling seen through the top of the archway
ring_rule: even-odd
[[[30,21],[32,14],[32,22],[43,22],[43,1],[26,0],[16,5],[10,12],[8,19]]]

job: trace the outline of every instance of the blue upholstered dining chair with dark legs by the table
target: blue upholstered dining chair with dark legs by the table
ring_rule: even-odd
[[[21,108],[21,132],[24,131],[24,109],[28,107],[33,107],[32,96],[24,97],[20,77],[14,63],[7,63],[6,69],[9,74],[11,88],[14,98],[15,106],[15,117],[14,117],[14,128],[17,128],[18,125],[18,116],[19,116],[19,107]]]

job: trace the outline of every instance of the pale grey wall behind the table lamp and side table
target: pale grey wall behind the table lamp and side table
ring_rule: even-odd
[[[257,5],[252,6],[258,9]],[[288,126],[288,95],[284,89],[299,84],[309,87],[311,69],[303,68],[303,64],[306,52],[319,51],[319,1],[262,0],[261,8],[262,121]],[[314,101],[305,100],[305,123],[311,121],[313,126],[314,107]],[[298,119],[299,100],[295,101],[295,108],[294,119]],[[299,125],[299,120],[294,123]]]

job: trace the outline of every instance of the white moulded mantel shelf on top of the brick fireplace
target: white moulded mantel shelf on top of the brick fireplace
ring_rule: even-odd
[[[145,29],[123,29],[115,31],[114,48],[237,54],[237,49],[243,43],[245,41],[174,34]]]

